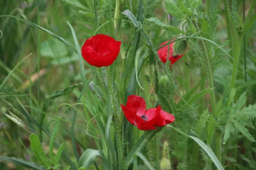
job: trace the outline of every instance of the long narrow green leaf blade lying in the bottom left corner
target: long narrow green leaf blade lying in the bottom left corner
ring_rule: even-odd
[[[45,168],[40,165],[34,164],[33,162],[25,161],[24,159],[18,159],[15,157],[0,156],[0,161],[7,161],[19,167],[31,168],[33,170],[45,170]]]

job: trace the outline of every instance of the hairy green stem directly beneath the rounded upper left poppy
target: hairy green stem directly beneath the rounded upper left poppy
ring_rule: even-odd
[[[117,115],[116,100],[115,100],[115,95],[114,95],[113,89],[112,89],[112,78],[111,78],[110,71],[109,71],[108,67],[107,67],[107,73],[108,73],[108,89],[111,94],[113,118],[114,118],[114,124],[115,124],[115,128],[116,128],[119,170],[124,170],[125,164],[124,164],[124,154],[123,154],[124,151],[123,151],[123,142],[122,142],[122,124]]]

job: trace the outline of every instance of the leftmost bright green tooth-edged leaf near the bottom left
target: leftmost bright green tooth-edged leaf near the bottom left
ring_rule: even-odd
[[[35,158],[44,167],[49,167],[51,163],[48,161],[48,159],[45,156],[43,147],[40,143],[38,136],[36,136],[35,134],[31,134],[29,136],[29,140],[30,140],[30,147],[32,149],[32,152],[34,153]]]

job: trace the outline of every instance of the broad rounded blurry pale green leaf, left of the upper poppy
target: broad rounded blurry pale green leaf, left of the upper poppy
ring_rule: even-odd
[[[62,42],[55,38],[50,38],[49,40],[41,42],[40,54],[43,57],[61,57],[67,55],[67,49]]]

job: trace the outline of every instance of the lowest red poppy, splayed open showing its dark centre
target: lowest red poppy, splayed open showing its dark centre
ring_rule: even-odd
[[[125,118],[140,130],[156,129],[154,126],[165,126],[175,121],[175,117],[163,111],[161,106],[146,110],[145,100],[137,95],[131,95],[127,99],[126,106],[121,105]]]

